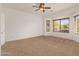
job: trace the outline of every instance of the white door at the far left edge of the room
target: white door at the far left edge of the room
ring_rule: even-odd
[[[5,43],[5,19],[4,14],[0,14],[0,42],[1,45]]]

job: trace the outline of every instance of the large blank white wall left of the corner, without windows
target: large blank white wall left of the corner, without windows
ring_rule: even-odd
[[[40,15],[9,8],[4,10],[6,41],[43,35]]]

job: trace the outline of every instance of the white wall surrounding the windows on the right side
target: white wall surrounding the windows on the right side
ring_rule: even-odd
[[[70,33],[61,33],[61,32],[59,33],[59,32],[53,32],[53,30],[51,30],[49,33],[45,32],[45,35],[67,38],[79,42],[79,34],[75,33],[74,18],[73,18],[73,16],[77,14],[79,14],[79,7],[70,8],[67,10],[60,11],[56,14],[53,14],[52,15],[53,17],[49,18],[51,22],[52,20],[55,19],[70,17],[70,29],[69,29]],[[53,24],[51,23],[51,25]],[[51,27],[51,29],[52,28],[53,26]]]

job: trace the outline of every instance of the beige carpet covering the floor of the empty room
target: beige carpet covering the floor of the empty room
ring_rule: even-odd
[[[7,42],[2,46],[6,56],[79,56],[79,43],[52,36],[39,36]]]

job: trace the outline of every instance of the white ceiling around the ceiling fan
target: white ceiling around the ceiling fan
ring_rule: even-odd
[[[33,8],[34,3],[6,3],[2,4],[4,7],[12,8],[12,9],[17,9],[25,12],[35,12],[35,8]],[[61,10],[65,10],[67,8],[71,8],[74,6],[79,5],[78,3],[46,3],[46,6],[51,7],[50,10],[47,10],[46,12],[58,12]],[[51,11],[53,10],[53,11]],[[37,11],[36,13],[38,13]]]

